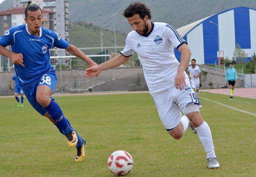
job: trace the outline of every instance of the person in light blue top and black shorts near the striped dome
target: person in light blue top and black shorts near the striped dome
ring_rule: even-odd
[[[233,98],[234,88],[237,81],[236,69],[233,68],[233,64],[229,64],[229,68],[226,70],[226,82],[228,82],[230,98]]]

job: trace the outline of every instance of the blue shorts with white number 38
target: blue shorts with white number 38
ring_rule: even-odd
[[[57,84],[57,75],[54,70],[54,71],[49,71],[46,74],[42,75],[42,77],[39,80],[35,81],[35,84],[33,86],[23,89],[24,94],[26,95],[26,98],[28,99],[29,103],[41,115],[45,115],[47,113],[47,110],[36,101],[37,87],[41,85],[48,86],[53,93],[56,84]],[[55,99],[52,98],[52,100],[55,100]]]

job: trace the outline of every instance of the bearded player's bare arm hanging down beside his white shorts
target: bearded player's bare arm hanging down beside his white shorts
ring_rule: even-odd
[[[180,56],[180,64],[178,67],[178,72],[175,77],[175,86],[177,89],[183,90],[186,86],[184,71],[188,67],[191,52],[187,44],[182,44],[178,48],[178,51],[181,52],[181,56]]]

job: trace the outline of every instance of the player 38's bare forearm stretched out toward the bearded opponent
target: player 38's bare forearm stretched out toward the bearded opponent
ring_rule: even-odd
[[[98,64],[96,64],[91,58],[86,56],[86,54],[84,54],[80,49],[78,49],[76,46],[74,46],[72,44],[69,44],[66,51],[68,51],[70,54],[84,60],[88,64],[89,68],[92,66],[98,66]]]

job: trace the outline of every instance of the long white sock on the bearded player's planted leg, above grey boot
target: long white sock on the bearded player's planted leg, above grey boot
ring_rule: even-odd
[[[199,127],[196,127],[195,129],[197,131],[198,137],[202,145],[204,146],[204,150],[206,152],[209,152],[209,154],[212,154],[210,151],[214,150],[214,145],[212,142],[212,133],[209,125],[206,123],[206,121],[204,121],[202,125],[200,125]]]

